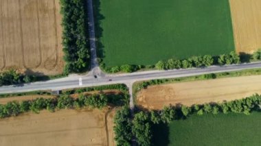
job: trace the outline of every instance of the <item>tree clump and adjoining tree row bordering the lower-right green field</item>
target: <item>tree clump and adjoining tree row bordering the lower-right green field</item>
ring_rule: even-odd
[[[138,145],[151,145],[151,126],[170,123],[173,120],[186,119],[191,114],[227,114],[229,112],[249,115],[260,111],[261,95],[252,95],[245,99],[227,101],[220,104],[203,104],[194,106],[166,106],[162,110],[139,111],[131,116],[128,107],[118,110],[114,118],[115,141],[117,145],[131,145],[133,137]]]

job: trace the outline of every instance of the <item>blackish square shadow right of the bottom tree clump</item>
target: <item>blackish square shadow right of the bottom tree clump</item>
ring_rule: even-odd
[[[169,127],[167,124],[160,123],[152,125],[152,144],[155,146],[169,145]]]

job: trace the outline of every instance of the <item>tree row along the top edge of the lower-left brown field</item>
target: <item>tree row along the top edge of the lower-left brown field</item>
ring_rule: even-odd
[[[10,101],[8,104],[0,105],[0,117],[17,116],[22,112],[32,111],[39,113],[41,110],[49,110],[54,112],[56,109],[71,108],[99,108],[102,109],[109,105],[109,97],[106,95],[80,95],[78,99],[73,99],[69,95],[61,95],[57,98],[37,98],[32,101]]]

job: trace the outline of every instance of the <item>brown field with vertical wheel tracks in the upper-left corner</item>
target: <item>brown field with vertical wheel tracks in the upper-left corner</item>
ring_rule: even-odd
[[[59,0],[0,0],[0,70],[63,73]]]

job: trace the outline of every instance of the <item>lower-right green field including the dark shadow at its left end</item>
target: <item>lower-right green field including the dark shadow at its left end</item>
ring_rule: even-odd
[[[158,125],[153,129],[155,145],[260,145],[261,113],[203,114]]]

